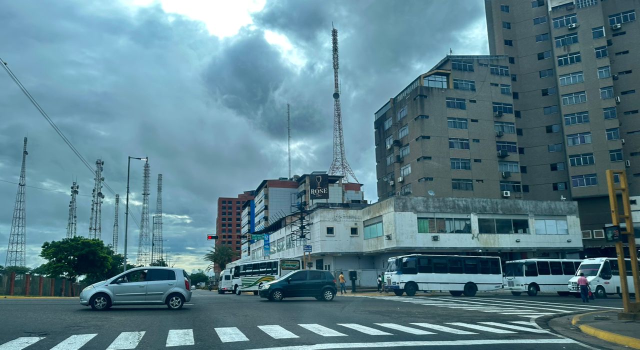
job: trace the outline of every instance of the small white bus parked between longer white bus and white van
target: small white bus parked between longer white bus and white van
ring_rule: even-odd
[[[568,296],[566,283],[575,276],[579,259],[522,259],[508,261],[504,265],[504,289],[519,296],[527,292],[536,296],[538,292],[557,292]]]

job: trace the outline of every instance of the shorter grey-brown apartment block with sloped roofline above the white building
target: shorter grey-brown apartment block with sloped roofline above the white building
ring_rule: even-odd
[[[378,197],[522,198],[507,56],[446,56],[375,113]]]

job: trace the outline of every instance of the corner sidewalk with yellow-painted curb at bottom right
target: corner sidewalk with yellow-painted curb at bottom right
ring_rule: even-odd
[[[619,321],[618,311],[575,315],[571,321],[582,333],[620,346],[640,349],[640,321]]]

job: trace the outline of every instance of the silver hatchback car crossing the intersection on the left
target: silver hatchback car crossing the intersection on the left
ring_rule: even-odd
[[[93,310],[114,305],[163,305],[172,310],[191,300],[191,281],[183,269],[136,267],[108,280],[93,283],[80,293],[80,304]]]

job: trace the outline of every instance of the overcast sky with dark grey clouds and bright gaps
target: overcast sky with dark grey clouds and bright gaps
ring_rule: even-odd
[[[346,157],[375,202],[373,113],[454,54],[488,54],[482,0],[6,1],[0,58],[124,197],[127,156],[149,157],[150,213],[163,174],[165,249],[204,268],[216,200],[292,173],[327,171],[333,154],[332,22],[339,31]],[[77,232],[88,235],[93,175],[0,70],[0,265],[4,265],[27,136],[27,265],[65,237],[77,178]],[[142,166],[131,164],[140,222]],[[8,182],[7,182],[8,181]],[[62,193],[56,193],[61,191]],[[102,205],[111,242],[114,196]],[[129,220],[129,258],[138,226]],[[124,208],[120,209],[120,243]]]

